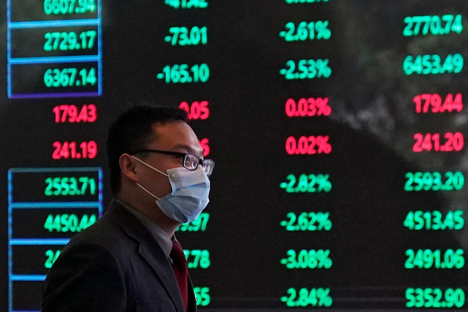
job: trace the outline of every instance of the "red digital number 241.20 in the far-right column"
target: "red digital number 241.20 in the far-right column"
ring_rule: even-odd
[[[440,134],[420,134],[417,133],[414,135],[414,139],[416,143],[413,145],[414,152],[422,152],[422,151],[431,151],[434,150],[436,152],[451,152],[451,151],[461,151],[463,149],[463,134],[457,132],[453,133],[446,133],[444,135],[445,143],[441,144],[441,137]]]

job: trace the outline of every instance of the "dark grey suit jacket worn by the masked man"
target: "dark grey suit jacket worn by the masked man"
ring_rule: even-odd
[[[75,235],[44,283],[42,312],[183,312],[171,264],[149,230],[112,201]],[[189,309],[197,312],[189,276]]]

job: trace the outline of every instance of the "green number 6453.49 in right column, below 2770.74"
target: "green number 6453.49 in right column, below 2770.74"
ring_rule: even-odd
[[[439,54],[408,55],[403,61],[405,74],[458,74],[463,69],[463,56],[461,54],[448,54],[442,62]]]

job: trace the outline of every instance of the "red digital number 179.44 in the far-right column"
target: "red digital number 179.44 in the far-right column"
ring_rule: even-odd
[[[458,111],[463,109],[463,99],[461,93],[455,95],[450,93],[446,96],[444,101],[439,94],[421,94],[413,98],[413,102],[416,104],[417,113],[427,113],[429,108],[431,112],[444,112],[444,111]]]

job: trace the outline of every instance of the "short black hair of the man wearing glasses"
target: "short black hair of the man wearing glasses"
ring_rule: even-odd
[[[175,107],[146,104],[132,106],[118,116],[110,126],[107,136],[110,188],[114,195],[120,190],[120,156],[146,148],[146,145],[154,140],[155,124],[175,120],[187,121],[187,112]]]

